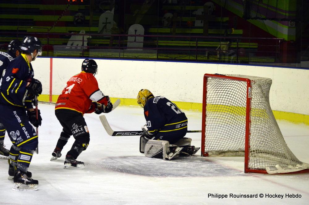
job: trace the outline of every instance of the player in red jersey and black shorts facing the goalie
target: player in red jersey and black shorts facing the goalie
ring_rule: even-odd
[[[66,154],[65,168],[84,167],[84,162],[76,160],[78,155],[87,149],[90,141],[83,115],[85,113],[101,114],[112,111],[113,105],[109,97],[100,91],[98,82],[94,77],[97,68],[94,60],[85,59],[82,64],[82,72],[70,78],[56,103],[55,115],[63,129],[52,153],[51,161],[61,157],[61,150],[71,135],[75,139],[71,150]]]

